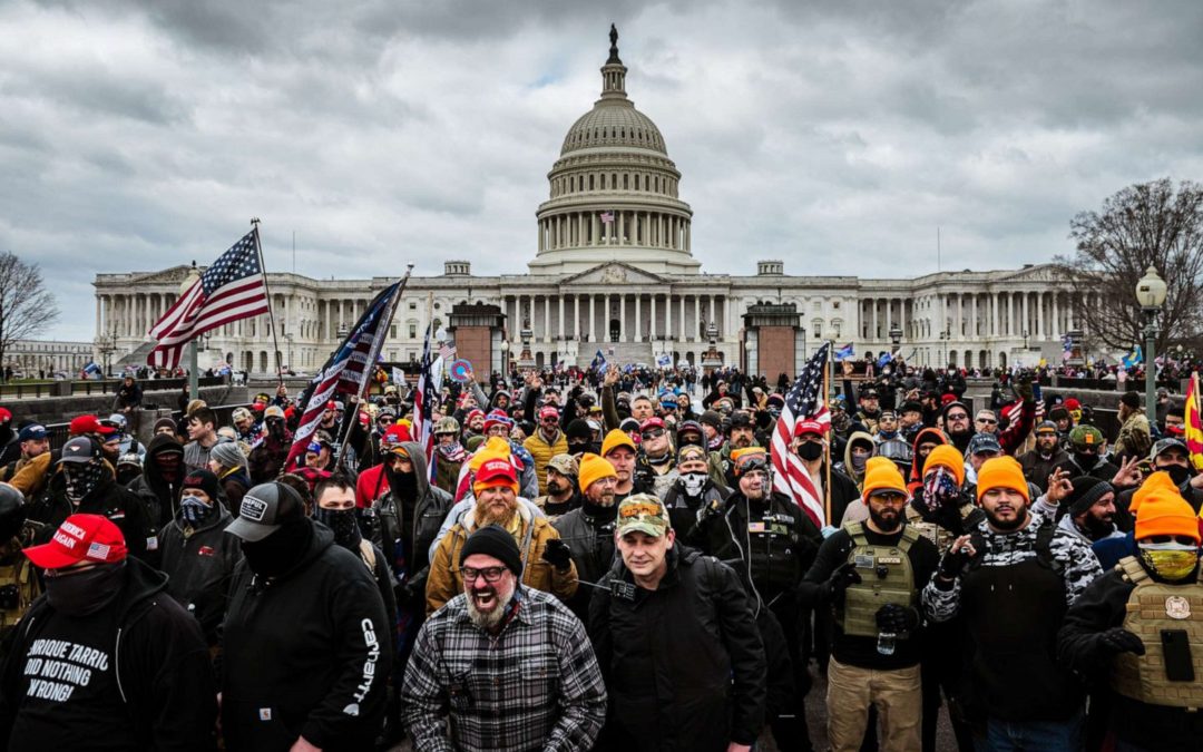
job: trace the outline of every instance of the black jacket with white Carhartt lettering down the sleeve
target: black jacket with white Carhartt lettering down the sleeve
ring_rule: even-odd
[[[304,557],[272,580],[243,561],[223,627],[226,750],[371,750],[384,722],[391,626],[360,557],[313,525]]]

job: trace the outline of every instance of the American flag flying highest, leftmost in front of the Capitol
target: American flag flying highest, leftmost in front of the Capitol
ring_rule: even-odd
[[[188,342],[224,324],[268,309],[256,229],[205,270],[200,280],[150,327],[150,337],[159,344],[147,356],[147,363],[155,368],[176,368]]]

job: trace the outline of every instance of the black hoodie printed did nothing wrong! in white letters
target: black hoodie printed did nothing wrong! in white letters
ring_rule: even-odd
[[[115,608],[105,606],[95,614],[71,618],[55,611],[45,596],[34,603],[14,632],[12,650],[0,674],[0,750],[81,750],[85,748],[82,744],[91,740],[113,741],[122,736],[131,740],[124,747],[130,752],[214,748],[218,707],[209,652],[196,620],[164,592],[166,582],[162,573],[126,558],[125,584]],[[100,709],[89,712],[89,705],[77,704],[70,710],[79,716],[64,718],[60,724],[37,724],[36,738],[30,738],[31,734],[20,730],[22,705],[32,681],[25,671],[34,671],[35,661],[46,659],[29,653],[36,640],[79,633],[79,621],[89,622],[82,626],[84,630],[95,629],[99,652],[79,655],[81,651],[72,649],[65,651],[64,663],[89,667],[97,671],[89,679],[114,683],[117,697],[106,701],[124,705],[126,712],[108,713]],[[103,655],[109,645],[112,658]],[[71,659],[71,656],[78,657]],[[100,675],[107,674],[108,665],[114,667],[112,679]],[[70,686],[66,681],[61,683]],[[79,724],[89,729],[88,739],[81,740],[72,733]]]

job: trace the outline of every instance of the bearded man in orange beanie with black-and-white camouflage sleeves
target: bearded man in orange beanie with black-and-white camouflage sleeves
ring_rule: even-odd
[[[985,520],[953,543],[923,593],[934,621],[962,617],[970,681],[958,699],[984,723],[979,748],[1023,738],[1033,750],[1079,750],[1084,691],[1049,646],[1066,608],[1102,574],[1098,559],[1030,509],[1014,457],[982,466],[977,498]]]

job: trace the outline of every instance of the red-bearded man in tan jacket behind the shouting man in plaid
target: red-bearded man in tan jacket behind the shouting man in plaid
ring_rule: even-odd
[[[571,553],[546,517],[537,517],[527,505],[518,504],[514,464],[500,457],[486,460],[476,470],[472,491],[475,505],[461,514],[439,540],[431,559],[426,581],[427,615],[463,592],[463,572],[452,562],[461,561],[461,551],[473,531],[488,525],[497,525],[514,538],[522,562],[523,585],[556,594],[562,600],[571,598],[576,593]]]

